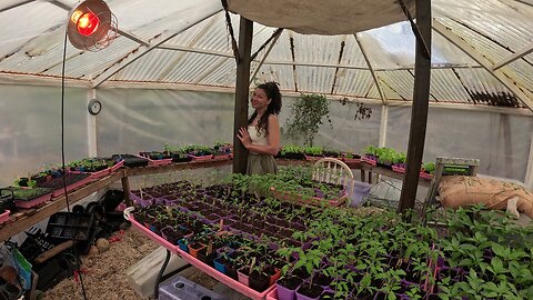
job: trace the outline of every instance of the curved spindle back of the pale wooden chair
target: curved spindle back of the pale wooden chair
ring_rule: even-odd
[[[353,196],[353,173],[350,167],[335,158],[323,158],[313,166],[312,179],[319,182],[343,186],[348,193],[348,204]]]

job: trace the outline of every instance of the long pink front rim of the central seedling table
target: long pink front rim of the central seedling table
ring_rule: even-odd
[[[217,279],[218,281],[224,283],[225,286],[232,288],[233,290],[247,296],[247,297],[250,297],[251,299],[257,299],[257,300],[262,300],[262,299],[266,299],[266,294],[270,293],[273,289],[275,289],[275,284],[272,284],[271,287],[269,287],[266,290],[264,290],[263,292],[258,292],[255,290],[252,290],[250,289],[249,287],[242,284],[241,282],[237,281],[237,280],[233,280],[232,278],[217,271],[214,268],[211,268],[209,266],[207,266],[205,263],[203,263],[202,261],[193,258],[192,256],[190,256],[189,253],[185,253],[183,252],[178,246],[174,246],[174,244],[171,244],[169,241],[167,241],[165,239],[159,237],[158,234],[155,234],[154,232],[150,231],[148,228],[145,228],[144,226],[140,224],[139,222],[137,222],[134,220],[134,218],[130,214],[130,217],[128,218],[128,220],[131,221],[131,223],[133,224],[133,227],[138,228],[141,230],[141,232],[143,232],[147,237],[149,237],[151,240],[155,241],[157,243],[161,244],[162,247],[164,247],[165,249],[168,249],[169,251],[171,251],[172,253],[174,254],[178,254],[180,256],[183,260],[185,260],[187,262],[191,263],[192,266],[194,266],[197,269],[199,269],[200,271],[209,274],[210,277]]]

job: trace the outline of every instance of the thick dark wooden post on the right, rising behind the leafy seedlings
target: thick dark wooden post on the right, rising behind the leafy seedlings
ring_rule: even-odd
[[[430,57],[424,57],[423,43],[416,42],[414,99],[408,143],[408,168],[403,177],[400,211],[414,208],[420,166],[424,154],[425,129],[430,102],[431,79],[431,0],[416,0],[416,26],[428,46]]]

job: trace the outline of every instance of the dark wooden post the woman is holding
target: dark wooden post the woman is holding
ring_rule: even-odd
[[[237,66],[235,111],[233,118],[233,172],[245,173],[248,150],[237,138],[239,128],[248,126],[248,97],[250,82],[250,54],[252,51],[253,22],[241,17],[239,28],[239,57]]]

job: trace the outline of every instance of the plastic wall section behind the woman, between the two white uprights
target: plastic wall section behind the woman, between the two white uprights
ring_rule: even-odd
[[[162,150],[165,143],[183,146],[215,141],[233,142],[234,94],[173,91],[102,89],[98,91],[102,112],[97,116],[98,153],[137,153]],[[291,114],[292,98],[283,98],[280,113],[282,131]],[[372,118],[356,121],[355,106],[331,102],[332,127],[324,120],[315,144],[358,151],[378,144],[380,108],[372,107]],[[250,108],[250,113],[252,113]],[[282,143],[291,141],[282,139]]]

